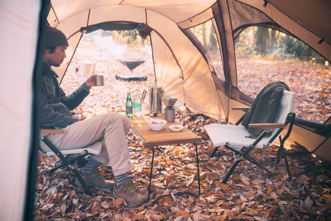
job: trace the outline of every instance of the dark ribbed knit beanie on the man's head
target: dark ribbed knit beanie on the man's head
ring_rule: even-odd
[[[66,35],[59,29],[46,25],[45,48],[61,45],[69,46]]]

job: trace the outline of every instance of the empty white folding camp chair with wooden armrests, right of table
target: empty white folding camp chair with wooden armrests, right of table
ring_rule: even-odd
[[[295,93],[284,90],[274,123],[249,124],[249,127],[259,127],[264,129],[264,131],[256,139],[251,138],[253,134],[250,134],[244,126],[239,126],[245,114],[238,120],[235,125],[213,123],[205,126],[205,129],[215,146],[213,153],[210,155],[210,158],[215,155],[216,151],[218,150],[218,147],[223,145],[236,154],[235,161],[226,176],[224,177],[222,183],[227,182],[236,166],[244,157],[248,159],[251,163],[263,168],[270,176],[274,176],[274,174],[271,173],[267,168],[265,168],[259,161],[257,161],[253,156],[249,155],[249,152],[255,147],[269,147],[275,142],[277,137],[279,137],[280,141],[280,147],[277,153],[277,163],[279,163],[280,152],[282,152],[289,178],[292,179],[290,167],[288,165],[288,161],[285,155],[284,143],[291,133],[295,118],[295,113],[292,112],[294,101]],[[248,107],[232,108],[232,110],[243,110],[245,112],[248,109]],[[288,124],[288,131],[282,139],[280,134]],[[268,133],[271,133],[271,135],[266,137]],[[239,150],[236,148],[238,146]],[[248,148],[245,151],[242,151],[242,147]]]

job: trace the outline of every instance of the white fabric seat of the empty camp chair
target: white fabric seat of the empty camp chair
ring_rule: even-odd
[[[205,125],[205,129],[215,147],[223,146],[227,142],[231,146],[248,147],[255,141],[255,139],[245,137],[252,136],[253,134],[248,133],[244,126],[212,123]],[[269,140],[270,137],[263,138],[255,147],[263,148],[263,144]],[[264,141],[266,142],[264,143]]]

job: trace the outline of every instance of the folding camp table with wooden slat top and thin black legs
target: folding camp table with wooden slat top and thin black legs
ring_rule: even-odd
[[[173,144],[186,144],[193,143],[195,145],[196,151],[196,160],[197,160],[197,173],[198,173],[198,185],[199,185],[199,195],[200,191],[200,171],[199,171],[199,159],[198,159],[198,144],[202,142],[202,137],[192,133],[187,128],[183,128],[183,130],[179,132],[173,132],[169,129],[169,125],[178,124],[177,122],[168,122],[166,126],[161,131],[153,131],[149,128],[146,120],[149,119],[162,119],[163,117],[148,117],[148,116],[133,116],[129,117],[131,121],[131,129],[134,133],[144,142],[144,148],[149,148],[152,150],[152,164],[151,171],[149,176],[149,185],[148,185],[148,199],[151,193],[151,182],[152,182],[152,172],[153,172],[153,163],[154,163],[154,146],[160,145],[173,145]],[[174,195],[180,194],[189,194],[193,195],[190,192],[178,192]],[[162,195],[160,197],[165,197],[170,195]]]

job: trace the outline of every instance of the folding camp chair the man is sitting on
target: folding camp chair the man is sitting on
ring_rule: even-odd
[[[59,164],[58,166],[53,167],[52,169],[48,170],[47,172],[50,172],[51,174],[54,173],[57,169],[67,166],[77,177],[78,181],[81,183],[85,193],[87,193],[88,195],[92,196],[92,192],[90,191],[90,189],[88,188],[88,186],[86,185],[85,181],[83,180],[83,178],[81,177],[80,173],[77,170],[78,165],[74,162],[83,159],[85,156],[89,155],[89,154],[95,154],[95,155],[99,155],[101,152],[101,145],[100,148],[96,148],[95,146],[93,146],[93,148],[87,146],[81,149],[73,149],[73,150],[61,150],[59,151],[47,138],[46,138],[46,134],[63,134],[63,130],[53,130],[53,129],[41,129],[40,134],[44,135],[41,137],[41,140],[49,147],[49,149],[51,149],[52,151],[48,151],[48,152],[44,152],[42,151],[44,154],[46,154],[47,156],[54,156],[57,155],[61,160],[62,163]],[[101,142],[101,141],[97,141],[97,142]],[[68,160],[68,156],[71,154],[81,154],[77,157],[75,157],[72,160]],[[64,155],[67,155],[66,157]]]

